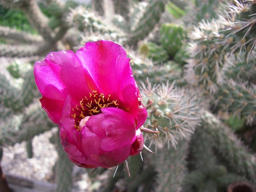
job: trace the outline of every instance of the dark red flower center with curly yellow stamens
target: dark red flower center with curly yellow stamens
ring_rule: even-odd
[[[94,90],[89,92],[89,97],[82,98],[76,108],[72,108],[71,116],[75,119],[75,128],[79,131],[79,123],[86,116],[96,115],[101,113],[101,108],[115,107],[118,108],[117,100],[111,99],[111,95],[105,96],[103,93],[98,93]]]

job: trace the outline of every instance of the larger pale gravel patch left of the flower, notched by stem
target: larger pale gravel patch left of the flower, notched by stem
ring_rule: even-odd
[[[27,157],[25,142],[3,148],[1,161],[3,172],[29,179],[51,181],[52,166],[58,157],[55,146],[49,142],[53,131],[56,129],[34,137],[32,158]]]

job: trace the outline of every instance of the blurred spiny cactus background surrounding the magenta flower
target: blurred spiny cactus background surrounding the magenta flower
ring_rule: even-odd
[[[75,166],[38,100],[35,61],[100,39],[160,131],[131,177]],[[0,0],[0,192],[256,192],[255,47],[255,0]]]

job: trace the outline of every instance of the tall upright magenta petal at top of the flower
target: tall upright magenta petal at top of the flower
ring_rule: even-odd
[[[118,100],[127,107],[130,103],[127,104],[127,100],[137,99],[137,85],[132,76],[130,58],[127,58],[122,46],[105,40],[87,42],[76,55],[102,93],[117,94]]]

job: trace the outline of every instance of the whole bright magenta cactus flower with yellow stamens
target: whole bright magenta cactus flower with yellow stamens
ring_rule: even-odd
[[[147,111],[126,56],[120,45],[101,40],[35,63],[42,108],[78,166],[110,168],[143,149]]]

